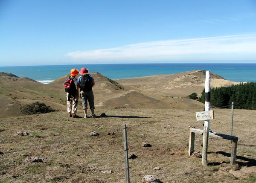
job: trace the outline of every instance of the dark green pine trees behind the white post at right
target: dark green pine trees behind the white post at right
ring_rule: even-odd
[[[205,89],[198,101],[205,102]],[[210,104],[212,106],[222,107],[231,105],[232,102],[236,109],[256,110],[256,82],[211,89]]]

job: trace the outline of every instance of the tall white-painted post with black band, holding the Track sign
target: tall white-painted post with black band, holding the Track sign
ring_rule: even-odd
[[[211,77],[210,71],[205,71],[205,111],[210,110],[210,96],[211,96]],[[202,152],[202,165],[207,166],[207,151],[208,151],[208,138],[209,138],[210,120],[204,121],[204,136],[203,136],[203,152]]]

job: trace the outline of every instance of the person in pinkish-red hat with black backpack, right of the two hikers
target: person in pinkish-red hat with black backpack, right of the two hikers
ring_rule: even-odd
[[[94,78],[88,73],[88,69],[85,69],[84,67],[81,68],[80,76],[78,78],[78,84],[80,87],[80,96],[81,96],[81,101],[83,105],[83,110],[84,110],[84,118],[87,118],[87,101],[89,102],[90,110],[92,112],[92,118],[95,118],[96,115],[94,113],[94,96],[93,96],[93,90],[92,87],[95,85]]]

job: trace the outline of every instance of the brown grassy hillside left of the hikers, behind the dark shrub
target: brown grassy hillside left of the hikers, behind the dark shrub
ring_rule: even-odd
[[[0,73],[0,118],[20,116],[21,106],[36,101],[64,110],[66,104],[64,94],[53,85],[42,84],[30,78],[19,78],[9,73]]]

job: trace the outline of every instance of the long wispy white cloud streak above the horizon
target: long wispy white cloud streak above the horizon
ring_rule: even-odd
[[[66,56],[95,62],[256,60],[256,34],[153,41],[109,49],[69,52]]]

